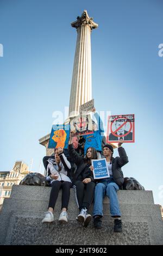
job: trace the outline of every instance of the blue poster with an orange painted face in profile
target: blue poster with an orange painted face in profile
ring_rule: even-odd
[[[57,124],[52,126],[51,136],[49,139],[48,148],[68,148],[68,141],[70,136],[70,126],[69,124]]]

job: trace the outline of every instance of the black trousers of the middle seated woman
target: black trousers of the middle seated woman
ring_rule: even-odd
[[[79,210],[86,208],[89,209],[94,197],[95,182],[84,184],[83,181],[77,180],[74,182],[76,185],[76,195],[79,205]]]

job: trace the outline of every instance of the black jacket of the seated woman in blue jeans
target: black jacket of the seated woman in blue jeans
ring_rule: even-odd
[[[123,172],[121,170],[121,167],[124,166],[126,163],[128,163],[128,156],[126,154],[126,151],[124,148],[120,147],[118,148],[118,153],[120,156],[112,157],[112,178],[114,179],[115,183],[121,188],[124,182],[123,178]],[[101,180],[98,180],[98,182],[102,182]]]

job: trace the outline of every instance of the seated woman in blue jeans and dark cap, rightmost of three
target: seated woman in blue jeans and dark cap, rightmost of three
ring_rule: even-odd
[[[106,195],[110,199],[110,214],[114,217],[114,231],[122,232],[121,211],[118,204],[117,191],[122,187],[124,178],[121,167],[128,163],[128,156],[124,148],[121,147],[123,140],[118,143],[118,153],[120,156],[112,157],[113,147],[110,144],[106,144],[103,147],[103,155],[109,169],[109,178],[97,180],[95,187],[95,204],[93,208],[93,218],[95,228],[102,228],[102,216],[103,216],[103,198]],[[91,166],[93,171],[93,166]]]

